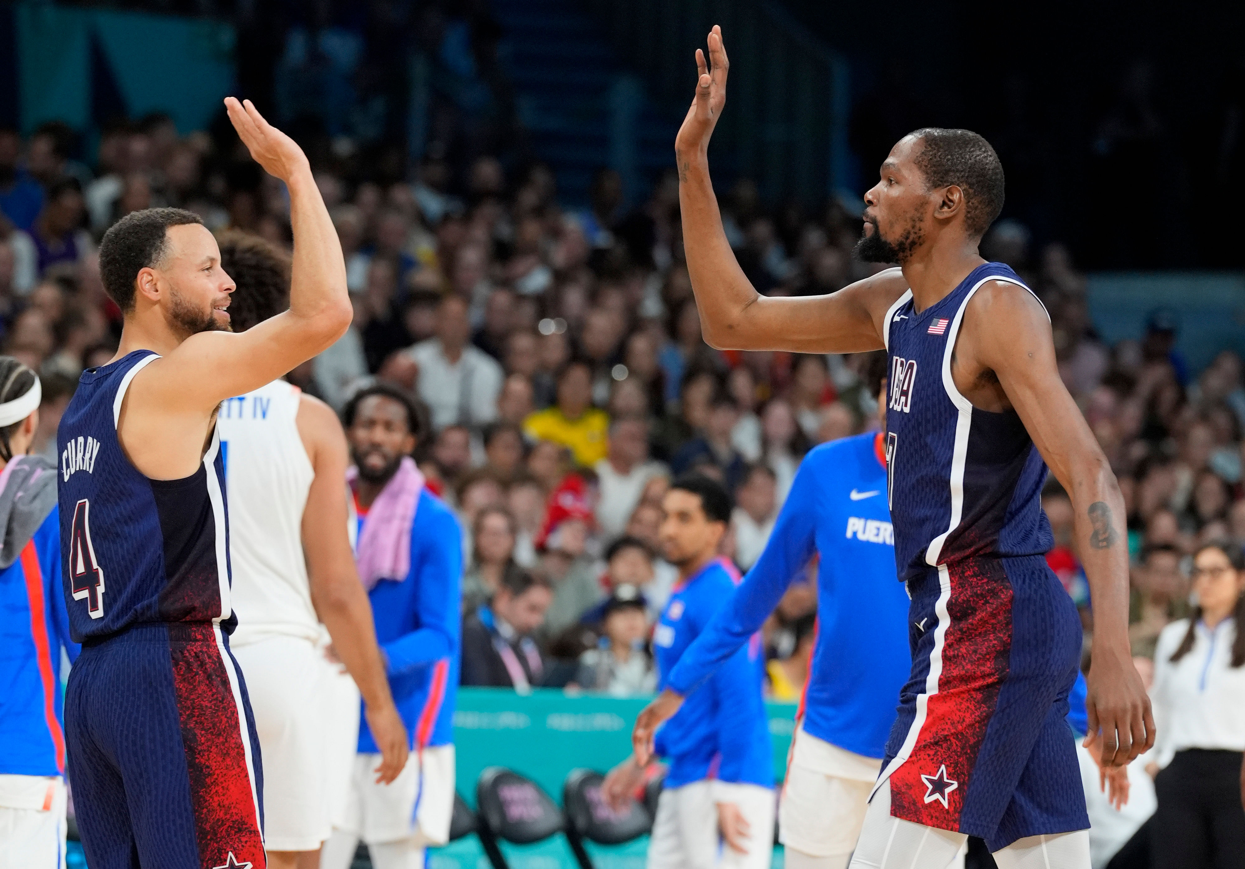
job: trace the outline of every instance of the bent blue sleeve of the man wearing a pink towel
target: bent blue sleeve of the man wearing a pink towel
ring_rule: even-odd
[[[411,548],[411,576],[417,584],[416,627],[396,640],[381,644],[388,676],[433,664],[458,652],[462,618],[462,537],[458,520],[437,504],[436,512],[416,515],[412,537],[420,544]],[[432,515],[427,515],[432,513]]]

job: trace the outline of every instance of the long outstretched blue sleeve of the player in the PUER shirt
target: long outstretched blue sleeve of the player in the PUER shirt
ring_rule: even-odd
[[[670,671],[666,685],[674,692],[686,697],[745,645],[773,613],[792,578],[813,557],[817,548],[817,474],[809,464],[817,464],[812,454],[796,473],[791,494],[778,513],[761,558]]]

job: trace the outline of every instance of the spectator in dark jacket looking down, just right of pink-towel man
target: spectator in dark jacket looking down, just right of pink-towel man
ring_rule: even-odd
[[[549,580],[525,570],[502,578],[493,599],[463,618],[462,683],[527,691],[544,679],[533,635],[553,601]]]

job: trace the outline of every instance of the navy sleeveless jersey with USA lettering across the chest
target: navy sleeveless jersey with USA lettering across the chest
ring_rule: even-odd
[[[888,500],[904,581],[964,559],[1042,554],[1053,543],[1041,505],[1046,463],[1025,423],[1013,410],[974,407],[951,378],[964,309],[990,280],[1028,290],[1007,265],[986,263],[924,311],[908,290],[886,312]]]

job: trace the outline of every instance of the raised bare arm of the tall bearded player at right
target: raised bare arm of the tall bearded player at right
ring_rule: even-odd
[[[879,350],[881,319],[908,289],[898,269],[830,295],[771,299],[757,293],[740,268],[708,176],[708,141],[726,106],[730,70],[717,25],[708,35],[708,56],[707,65],[705,52],[696,50],[696,97],[675,139],[684,250],[705,340],[722,350]]]

